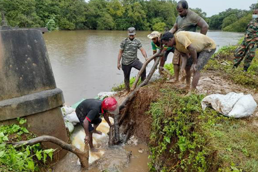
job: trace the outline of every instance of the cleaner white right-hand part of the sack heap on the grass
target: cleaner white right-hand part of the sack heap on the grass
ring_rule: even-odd
[[[255,100],[251,94],[241,97],[234,105],[228,116],[234,118],[242,118],[253,114],[257,107]]]

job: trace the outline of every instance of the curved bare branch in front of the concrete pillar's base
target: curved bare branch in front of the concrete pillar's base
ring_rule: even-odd
[[[85,145],[86,151],[82,152],[72,144],[68,144],[56,137],[53,136],[39,136],[36,138],[32,138],[30,140],[26,141],[20,141],[20,142],[15,142],[15,143],[8,143],[8,144],[13,144],[13,146],[20,146],[20,145],[29,145],[32,146],[34,144],[38,144],[40,142],[52,142],[54,144],[57,144],[58,146],[62,147],[65,150],[68,150],[79,158],[79,161],[81,162],[81,169],[83,172],[87,171],[89,167],[89,147],[88,145]]]

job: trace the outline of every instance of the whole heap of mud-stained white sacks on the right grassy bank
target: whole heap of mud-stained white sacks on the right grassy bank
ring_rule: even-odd
[[[221,114],[234,118],[242,118],[253,114],[257,107],[257,103],[251,94],[244,95],[243,93],[228,93],[208,95],[202,100],[202,108],[207,106]]]

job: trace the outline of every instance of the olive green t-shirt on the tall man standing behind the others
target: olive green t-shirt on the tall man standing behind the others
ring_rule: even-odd
[[[197,24],[202,19],[198,14],[193,12],[191,9],[187,9],[188,13],[185,17],[177,16],[177,32],[179,31],[190,31],[196,32]]]

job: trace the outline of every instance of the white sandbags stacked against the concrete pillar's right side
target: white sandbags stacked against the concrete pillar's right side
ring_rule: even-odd
[[[80,122],[75,113],[75,109],[70,106],[64,105],[62,107],[62,113],[65,126],[69,129],[70,133],[73,132],[74,126]]]

